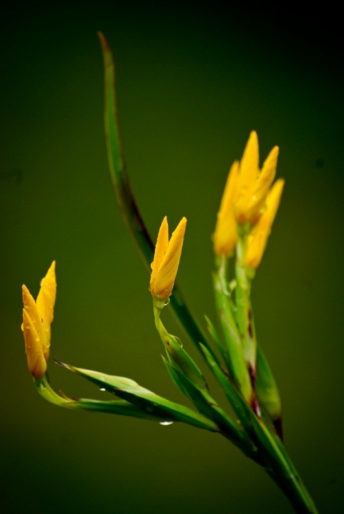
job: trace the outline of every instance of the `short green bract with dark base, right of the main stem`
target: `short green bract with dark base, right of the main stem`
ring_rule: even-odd
[[[271,419],[276,432],[282,439],[282,407],[280,393],[271,368],[260,345],[257,348],[256,393],[260,405]]]

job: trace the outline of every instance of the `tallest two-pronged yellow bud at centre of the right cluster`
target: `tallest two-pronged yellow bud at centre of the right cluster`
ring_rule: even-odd
[[[255,131],[251,132],[240,162],[234,197],[234,215],[238,223],[255,225],[264,212],[267,193],[275,178],[278,151],[278,147],[273,147],[260,171],[258,136]]]

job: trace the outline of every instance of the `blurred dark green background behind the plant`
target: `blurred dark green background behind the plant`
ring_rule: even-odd
[[[286,187],[254,282],[286,447],[323,513],[343,505],[343,56],[330,4],[302,17],[217,1],[12,2],[0,45],[0,510],[3,514],[291,513],[228,441],[182,424],[64,411],[27,371],[21,285],[56,259],[51,355],[187,402],[162,365],[148,276],[110,183],[97,30],[116,60],[123,147],[154,237],[185,215],[178,280],[216,318],[210,234],[249,132],[280,145]],[[168,310],[168,309],[167,309]],[[184,339],[175,323],[164,321]],[[214,395],[225,403],[205,370]],[[105,398],[49,361],[67,395]]]

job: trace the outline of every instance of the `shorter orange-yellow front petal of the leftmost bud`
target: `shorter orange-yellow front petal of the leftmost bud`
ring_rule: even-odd
[[[29,371],[35,378],[42,378],[47,369],[47,363],[42,352],[40,337],[25,308],[23,309],[23,332]]]

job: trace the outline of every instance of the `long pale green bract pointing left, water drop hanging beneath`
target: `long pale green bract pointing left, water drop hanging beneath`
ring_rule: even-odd
[[[219,428],[213,421],[207,419],[193,409],[184,405],[170,402],[165,398],[138,385],[130,378],[111,376],[90,369],[81,369],[64,363],[61,366],[73,371],[73,373],[86,378],[101,389],[116,395],[138,407],[144,413],[162,420],[182,421],[188,425],[204,428],[212,432],[219,432]]]

